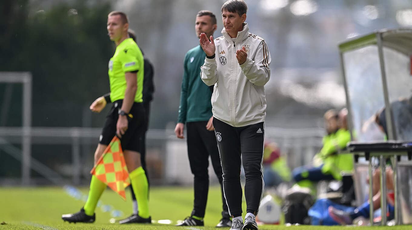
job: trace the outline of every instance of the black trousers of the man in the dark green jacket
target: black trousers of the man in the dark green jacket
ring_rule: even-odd
[[[213,170],[219,179],[222,191],[222,216],[229,217],[225,196],[223,193],[222,165],[220,164],[218,144],[215,133],[206,129],[207,121],[187,122],[187,154],[190,170],[194,175],[194,205],[192,216],[204,217],[207,195],[209,191],[209,156]]]

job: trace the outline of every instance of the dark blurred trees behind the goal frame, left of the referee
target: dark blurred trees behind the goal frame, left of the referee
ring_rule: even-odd
[[[109,2],[61,2],[35,12],[29,10],[28,0],[3,0],[0,6],[0,70],[33,74],[32,125],[101,125],[104,116],[91,119],[88,107],[110,91],[107,66],[115,47],[105,28]],[[5,84],[0,87],[4,101],[10,90]],[[20,126],[18,84],[13,86],[10,105],[2,126]]]

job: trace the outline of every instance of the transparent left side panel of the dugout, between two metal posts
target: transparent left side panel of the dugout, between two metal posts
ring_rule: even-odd
[[[345,52],[343,62],[354,140],[383,141],[384,133],[375,123],[375,114],[385,106],[377,46]]]

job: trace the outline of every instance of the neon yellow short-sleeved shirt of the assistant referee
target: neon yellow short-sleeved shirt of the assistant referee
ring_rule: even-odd
[[[134,102],[142,102],[143,90],[143,54],[131,38],[124,39],[109,61],[110,100],[124,99],[126,91],[126,72],[137,71],[137,91]]]

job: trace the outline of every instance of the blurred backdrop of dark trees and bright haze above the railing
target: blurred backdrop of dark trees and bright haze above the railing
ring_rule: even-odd
[[[108,112],[89,105],[109,91],[107,14],[129,15],[137,43],[155,67],[150,128],[174,128],[183,58],[199,40],[201,9],[218,18],[225,0],[2,0],[0,71],[33,74],[33,126],[101,127]],[[381,28],[412,25],[408,0],[246,0],[250,32],[272,56],[267,125],[321,127],[322,114],[345,105],[337,44]],[[11,96],[10,96],[11,95]],[[11,98],[11,100],[8,100]],[[21,86],[0,84],[0,126],[21,125]]]

